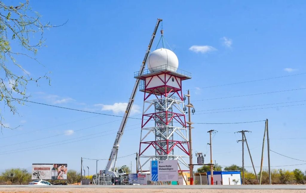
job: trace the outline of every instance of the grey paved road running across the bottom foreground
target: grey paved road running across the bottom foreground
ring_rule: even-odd
[[[306,185],[122,185],[122,186],[97,186],[97,185],[55,185],[55,186],[29,186],[29,185],[2,185],[1,188],[152,188],[152,189],[253,189],[253,190],[306,190]]]

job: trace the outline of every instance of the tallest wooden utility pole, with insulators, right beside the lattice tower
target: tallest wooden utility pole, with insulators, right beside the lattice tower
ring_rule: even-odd
[[[191,111],[190,108],[194,108],[193,105],[190,103],[190,92],[188,90],[188,94],[185,95],[188,97],[188,104],[185,105],[188,107],[188,127],[189,127],[189,172],[190,172],[190,185],[193,185],[193,165],[192,165],[192,138],[191,138]],[[194,113],[194,109],[192,109],[192,113]]]

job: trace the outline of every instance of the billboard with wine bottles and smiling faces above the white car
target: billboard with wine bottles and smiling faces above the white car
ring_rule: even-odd
[[[32,180],[67,180],[67,164],[33,163]]]

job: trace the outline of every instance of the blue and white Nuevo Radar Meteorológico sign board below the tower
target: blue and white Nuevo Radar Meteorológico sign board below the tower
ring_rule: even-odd
[[[152,181],[178,181],[177,160],[151,161]]]

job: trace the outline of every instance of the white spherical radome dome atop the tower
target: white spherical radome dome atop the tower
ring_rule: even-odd
[[[159,66],[161,66],[159,68]],[[150,55],[147,62],[147,67],[150,72],[160,71],[160,70],[170,70],[177,71],[178,59],[177,56],[171,50],[166,48],[159,48],[154,50]]]

